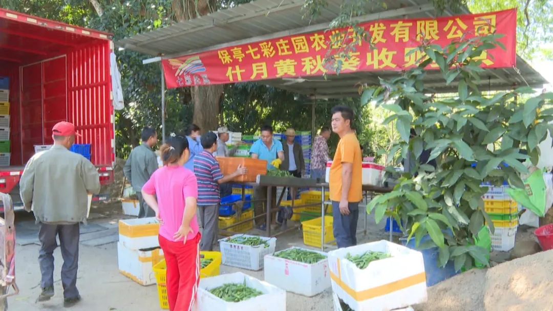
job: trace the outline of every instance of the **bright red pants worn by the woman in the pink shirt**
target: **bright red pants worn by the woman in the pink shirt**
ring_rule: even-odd
[[[200,239],[173,242],[159,236],[167,263],[167,296],[170,311],[190,311],[200,283]]]

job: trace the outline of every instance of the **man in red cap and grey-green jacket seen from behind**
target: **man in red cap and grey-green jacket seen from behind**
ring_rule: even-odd
[[[39,302],[54,296],[54,250],[59,236],[61,283],[64,307],[81,300],[77,289],[79,263],[79,223],[86,223],[88,193],[100,192],[100,176],[96,167],[84,156],[69,151],[75,142],[75,125],[60,122],[52,129],[54,146],[35,154],[23,171],[19,182],[25,210],[33,210],[40,223],[39,263],[42,292]],[[80,135],[79,135],[80,136]]]

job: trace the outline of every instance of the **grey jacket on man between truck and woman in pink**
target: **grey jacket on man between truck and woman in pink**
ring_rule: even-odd
[[[134,191],[140,193],[144,184],[157,169],[158,158],[154,151],[148,145],[142,144],[131,151],[129,159],[123,167],[123,173],[133,186]]]

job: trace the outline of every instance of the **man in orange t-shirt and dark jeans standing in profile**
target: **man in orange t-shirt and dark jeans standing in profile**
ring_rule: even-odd
[[[357,245],[359,202],[363,198],[361,146],[352,129],[353,110],[332,108],[332,131],[340,136],[330,167],[330,199],[338,248]]]

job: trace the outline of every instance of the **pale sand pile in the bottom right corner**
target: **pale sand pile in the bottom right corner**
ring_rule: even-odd
[[[553,250],[471,270],[428,289],[424,311],[553,310]]]

